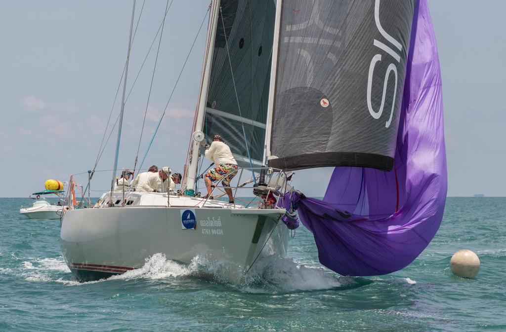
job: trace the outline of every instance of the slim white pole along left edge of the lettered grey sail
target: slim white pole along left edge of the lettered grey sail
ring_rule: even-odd
[[[271,128],[272,115],[274,110],[274,97],[276,95],[276,70],[278,66],[279,29],[281,26],[281,6],[283,0],[276,1],[276,17],[274,20],[274,39],[272,46],[271,80],[269,84],[269,102],[267,104],[267,127],[265,129],[265,157],[264,165],[271,156]]]

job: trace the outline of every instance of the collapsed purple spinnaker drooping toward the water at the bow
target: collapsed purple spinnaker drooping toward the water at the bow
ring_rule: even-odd
[[[443,217],[441,72],[426,0],[416,4],[410,38],[394,169],[336,167],[323,201],[291,198],[314,234],[320,262],[343,275],[402,269],[427,247]]]

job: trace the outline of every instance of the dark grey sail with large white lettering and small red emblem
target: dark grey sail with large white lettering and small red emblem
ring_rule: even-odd
[[[390,170],[415,0],[283,0],[269,166]]]

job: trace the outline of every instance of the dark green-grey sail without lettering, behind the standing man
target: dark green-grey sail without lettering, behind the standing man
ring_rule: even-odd
[[[222,135],[239,165],[259,165],[264,157],[274,1],[222,0],[220,5],[203,132],[208,141]]]

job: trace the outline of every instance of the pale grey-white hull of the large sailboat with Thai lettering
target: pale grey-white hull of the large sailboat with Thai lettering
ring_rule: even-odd
[[[194,229],[182,229],[188,209],[195,215]],[[69,210],[62,222],[62,253],[80,280],[140,268],[156,253],[183,263],[204,256],[246,270],[262,257],[285,256],[288,229],[279,220],[284,212],[225,206]]]

